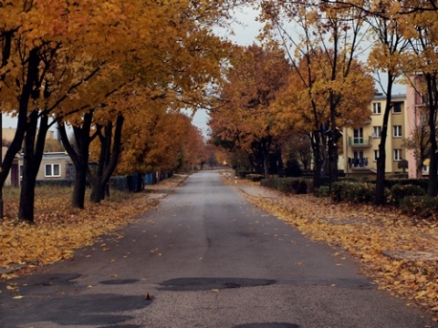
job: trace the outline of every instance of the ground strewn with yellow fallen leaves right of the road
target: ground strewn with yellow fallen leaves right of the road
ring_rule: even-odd
[[[239,180],[236,187],[245,184],[256,185]],[[381,289],[438,316],[438,222],[409,218],[396,209],[333,203],[312,195],[278,195],[245,193],[255,205],[310,239],[349,251]]]

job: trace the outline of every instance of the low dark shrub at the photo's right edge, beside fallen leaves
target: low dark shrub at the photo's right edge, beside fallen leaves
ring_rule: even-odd
[[[400,210],[403,214],[421,219],[436,219],[438,199],[430,196],[408,196],[400,200]]]

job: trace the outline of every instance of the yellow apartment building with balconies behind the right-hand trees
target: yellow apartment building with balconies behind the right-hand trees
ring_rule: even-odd
[[[368,174],[377,171],[381,127],[386,107],[386,97],[376,94],[370,104],[370,118],[360,128],[344,128],[344,171],[347,175]],[[410,154],[404,148],[404,138],[408,133],[406,95],[392,96],[392,108],[388,122],[386,139],[387,173],[402,172],[399,163]]]

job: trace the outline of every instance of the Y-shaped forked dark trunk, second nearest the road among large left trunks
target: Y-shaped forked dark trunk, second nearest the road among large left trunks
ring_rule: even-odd
[[[85,192],[87,190],[87,171],[89,169],[89,144],[91,142],[90,130],[93,119],[93,110],[86,113],[83,118],[82,127],[74,127],[74,138],[76,149],[68,139],[65,125],[59,126],[59,134],[62,144],[67,150],[70,159],[75,166],[76,175],[73,187],[71,205],[74,208],[85,208]]]

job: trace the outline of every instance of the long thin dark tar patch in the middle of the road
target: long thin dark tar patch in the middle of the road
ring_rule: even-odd
[[[161,291],[208,291],[275,284],[275,280],[250,278],[176,278],[160,283]]]

